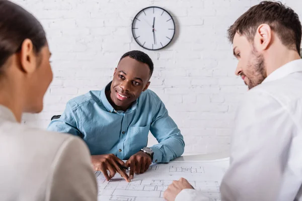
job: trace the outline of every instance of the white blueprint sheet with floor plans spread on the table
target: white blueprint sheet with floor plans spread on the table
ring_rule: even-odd
[[[220,182],[228,167],[229,158],[153,164],[145,173],[135,174],[131,182],[125,181],[118,173],[110,181],[106,181],[103,174],[96,171],[98,200],[163,201],[163,194],[168,185],[173,180],[184,177],[210,200],[218,201]]]

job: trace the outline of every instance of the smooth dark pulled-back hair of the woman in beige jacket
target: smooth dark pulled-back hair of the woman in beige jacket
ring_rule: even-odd
[[[25,39],[33,43],[35,53],[46,45],[46,35],[38,20],[22,7],[0,0],[0,74],[8,58],[19,52]]]

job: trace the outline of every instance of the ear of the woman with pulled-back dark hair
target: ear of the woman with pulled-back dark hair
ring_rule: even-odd
[[[37,68],[36,54],[33,49],[33,43],[30,39],[25,39],[20,50],[20,68],[25,73],[31,74]]]

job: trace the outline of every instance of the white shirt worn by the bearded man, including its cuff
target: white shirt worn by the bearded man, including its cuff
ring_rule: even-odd
[[[245,95],[236,114],[221,200],[297,201],[302,200],[301,184],[302,59],[298,59]],[[176,200],[204,198],[196,190],[183,190]]]

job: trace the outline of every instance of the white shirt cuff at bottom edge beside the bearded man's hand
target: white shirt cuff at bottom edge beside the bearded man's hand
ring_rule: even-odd
[[[183,189],[175,197],[175,201],[209,201],[210,198],[204,196],[202,192],[195,189]]]

